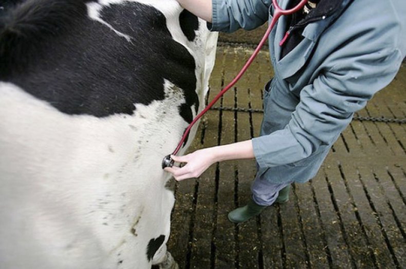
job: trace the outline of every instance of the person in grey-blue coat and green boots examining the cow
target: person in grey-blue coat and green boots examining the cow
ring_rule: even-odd
[[[271,0],[178,0],[212,31],[233,32],[272,19]],[[281,8],[298,0],[278,0]],[[175,180],[215,162],[255,157],[252,199],[231,211],[239,223],[288,200],[291,183],[316,175],[330,147],[368,100],[389,84],[406,55],[405,0],[309,0],[282,16],[269,35],[274,77],[265,86],[261,135],[172,156]],[[284,39],[282,45],[280,42]]]

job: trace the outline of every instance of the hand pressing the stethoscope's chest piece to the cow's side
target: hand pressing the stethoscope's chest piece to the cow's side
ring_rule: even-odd
[[[172,173],[176,181],[198,177],[216,162],[215,155],[211,149],[212,148],[197,150],[184,156],[171,155],[171,158],[175,162],[186,163],[186,165],[183,167],[165,167],[163,170]]]

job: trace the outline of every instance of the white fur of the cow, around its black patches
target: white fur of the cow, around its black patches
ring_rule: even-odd
[[[122,1],[99,2],[108,8]],[[191,43],[179,29],[176,1],[137,2],[163,12],[173,39],[193,55],[201,110],[216,34],[200,28]],[[101,6],[88,9],[97,20]],[[178,112],[181,89],[164,85],[164,100],[135,104],[132,116],[97,118],[63,114],[0,82],[1,268],[150,268],[146,246],[160,235],[168,240],[174,203],[161,161],[187,127]]]

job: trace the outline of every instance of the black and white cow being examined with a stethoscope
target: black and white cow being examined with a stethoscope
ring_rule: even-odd
[[[175,0],[18,2],[0,2],[0,268],[176,267],[161,161],[216,34]]]

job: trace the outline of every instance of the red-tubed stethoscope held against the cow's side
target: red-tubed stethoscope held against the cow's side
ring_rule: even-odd
[[[186,137],[188,136],[190,129],[193,127],[193,125],[196,123],[196,121],[198,121],[200,119],[201,116],[203,116],[209,109],[210,107],[213,106],[213,104],[215,102],[217,102],[217,100],[222,97],[229,88],[231,88],[245,73],[245,71],[248,69],[248,67],[251,65],[251,63],[254,61],[255,57],[258,55],[258,53],[260,52],[262,46],[265,44],[266,40],[268,39],[269,33],[271,32],[273,26],[276,24],[276,22],[278,22],[279,18],[282,15],[289,15],[292,14],[294,12],[297,12],[299,10],[301,10],[304,5],[307,3],[307,0],[302,0],[297,6],[291,8],[291,9],[282,9],[279,5],[277,0],[272,0],[272,6],[273,6],[273,17],[271,20],[270,25],[268,26],[268,29],[266,30],[264,37],[261,39],[260,43],[258,44],[258,46],[255,48],[254,52],[252,53],[251,57],[248,59],[248,61],[245,63],[245,65],[243,66],[243,68],[241,68],[241,70],[239,71],[239,73],[237,74],[237,76],[235,76],[235,78],[225,87],[222,89],[221,92],[219,92],[214,99],[205,107],[204,110],[202,110],[193,120],[192,122],[189,124],[188,128],[186,128],[186,130],[183,132],[183,136],[179,141],[178,146],[176,147],[175,151],[172,154],[169,154],[167,156],[165,156],[162,160],[162,169],[165,167],[172,167],[174,164],[174,160],[171,158],[171,155],[176,155],[178,153],[178,151],[180,150],[180,148],[182,147],[182,144],[184,142],[184,140],[186,139]],[[284,40],[286,40],[286,36],[284,38]],[[284,41],[283,40],[283,41]],[[281,41],[281,43],[283,42]]]

